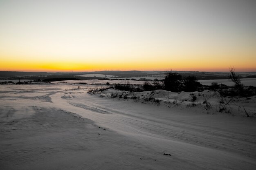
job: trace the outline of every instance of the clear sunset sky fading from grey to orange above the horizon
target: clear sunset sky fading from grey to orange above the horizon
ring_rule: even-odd
[[[0,0],[0,71],[256,71],[255,0]]]

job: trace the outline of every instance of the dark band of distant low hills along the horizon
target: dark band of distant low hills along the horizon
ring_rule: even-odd
[[[198,80],[205,79],[227,79],[229,72],[200,72],[200,71],[173,71],[185,76],[195,76]],[[43,80],[49,78],[72,78],[73,76],[85,75],[85,74],[101,74],[101,75],[113,75],[115,78],[124,77],[164,77],[166,71],[94,71],[94,72],[21,72],[21,71],[0,71],[0,79],[31,79],[31,80]],[[256,72],[237,72],[239,78],[255,78]],[[73,77],[74,78],[74,77]],[[75,77],[78,78],[78,77]],[[101,77],[82,77],[79,79],[99,79]]]

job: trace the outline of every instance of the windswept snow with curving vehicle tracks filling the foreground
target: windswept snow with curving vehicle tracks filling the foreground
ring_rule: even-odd
[[[255,118],[97,97],[87,93],[92,85],[79,86],[0,86],[0,169],[256,168]]]

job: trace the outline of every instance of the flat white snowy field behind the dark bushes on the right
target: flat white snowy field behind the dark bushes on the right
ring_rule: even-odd
[[[242,83],[245,86],[256,86],[256,78],[248,78],[248,79],[241,79]],[[216,82],[219,84],[226,84],[227,86],[233,86],[234,83],[230,82],[228,79],[209,79],[209,80],[199,80],[200,83],[203,85],[211,85],[212,82]]]

